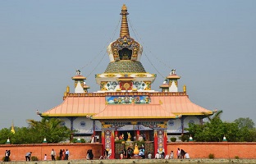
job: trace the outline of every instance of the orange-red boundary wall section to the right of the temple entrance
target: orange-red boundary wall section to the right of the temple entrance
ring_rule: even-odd
[[[184,149],[190,158],[208,158],[213,153],[215,158],[249,158],[256,159],[256,142],[254,143],[229,143],[229,142],[176,142],[167,143],[167,153],[171,150],[176,158],[177,148]]]

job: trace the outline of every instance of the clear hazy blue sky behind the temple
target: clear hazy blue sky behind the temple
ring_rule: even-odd
[[[27,126],[62,103],[80,69],[91,87],[119,37],[121,6],[130,36],[144,46],[141,62],[158,74],[172,68],[190,100],[223,110],[223,121],[256,123],[256,1],[0,1],[0,128]],[[149,60],[148,60],[149,58]]]

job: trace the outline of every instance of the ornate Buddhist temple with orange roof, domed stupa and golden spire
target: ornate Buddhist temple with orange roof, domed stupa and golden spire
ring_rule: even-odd
[[[190,101],[185,85],[178,91],[181,76],[171,70],[159,91],[151,88],[157,75],[145,71],[140,58],[143,47],[130,37],[126,5],[121,7],[121,30],[118,39],[107,47],[109,64],[95,75],[98,91],[89,92],[86,77],[76,71],[74,92],[66,87],[63,102],[40,116],[62,119],[63,125],[75,130],[74,136],[91,137],[112,150],[115,139],[133,142],[139,138],[148,141],[145,149],[167,150],[171,136],[181,136],[189,123],[202,123],[213,112]]]

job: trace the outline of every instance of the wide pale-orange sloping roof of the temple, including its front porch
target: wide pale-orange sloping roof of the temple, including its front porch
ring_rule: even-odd
[[[94,116],[94,119],[173,118],[205,115],[212,111],[190,101],[187,95],[150,96],[149,104],[106,104],[104,96],[66,97],[42,116]]]

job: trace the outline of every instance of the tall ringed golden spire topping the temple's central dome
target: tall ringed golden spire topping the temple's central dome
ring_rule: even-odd
[[[127,12],[126,4],[123,4],[121,7],[121,30],[120,30],[120,37],[127,36],[130,37],[129,27],[127,22],[127,16],[129,13]]]

